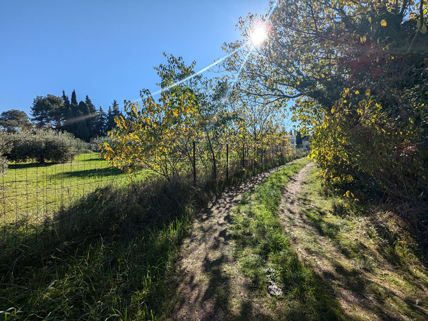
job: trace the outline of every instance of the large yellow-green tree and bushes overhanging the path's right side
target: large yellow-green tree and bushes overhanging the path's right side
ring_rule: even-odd
[[[226,46],[243,93],[297,98],[291,110],[330,186],[384,188],[427,201],[426,1],[279,1],[254,21],[268,36],[256,48]],[[236,51],[236,52],[235,52]],[[241,64],[247,59],[246,68]],[[354,187],[343,184],[352,183]],[[360,186],[360,187],[358,187]]]

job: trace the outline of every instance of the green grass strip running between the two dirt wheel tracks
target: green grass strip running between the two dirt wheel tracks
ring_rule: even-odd
[[[349,320],[330,286],[299,261],[277,214],[282,191],[290,178],[309,160],[285,166],[247,195],[233,214],[233,238],[241,270],[256,289],[252,300],[269,311],[264,318],[281,320]],[[269,296],[270,282],[283,295]],[[262,317],[263,318],[263,317]],[[263,318],[263,319],[264,319]]]

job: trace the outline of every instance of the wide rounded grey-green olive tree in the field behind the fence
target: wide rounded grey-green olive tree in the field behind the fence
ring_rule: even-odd
[[[3,155],[9,161],[38,163],[65,163],[83,152],[86,144],[67,132],[36,130],[35,134],[21,131],[4,137],[5,143],[12,146]]]

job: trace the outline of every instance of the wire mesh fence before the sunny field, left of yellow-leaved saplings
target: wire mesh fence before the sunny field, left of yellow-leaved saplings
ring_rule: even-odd
[[[8,160],[0,173],[3,250],[27,245],[28,235],[37,237],[40,226],[48,229],[48,222],[54,224],[61,209],[76,200],[109,184],[130,181],[128,175],[101,158],[95,144],[32,136],[12,137],[0,143],[0,155]]]

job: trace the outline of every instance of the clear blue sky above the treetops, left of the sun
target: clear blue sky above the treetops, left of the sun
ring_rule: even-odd
[[[29,114],[37,95],[89,95],[98,108],[155,91],[162,52],[196,69],[239,38],[235,24],[268,0],[15,1],[0,3],[0,112]]]

